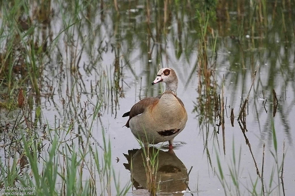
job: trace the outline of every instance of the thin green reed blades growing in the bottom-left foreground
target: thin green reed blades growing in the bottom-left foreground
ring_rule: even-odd
[[[65,130],[66,131],[66,130]],[[35,187],[35,195],[113,195],[112,185],[116,195],[126,195],[130,189],[130,182],[124,187],[120,186],[119,179],[115,175],[111,163],[110,141],[106,140],[103,131],[104,152],[97,149],[84,153],[82,150],[75,150],[75,146],[58,141],[58,133],[50,142],[47,158],[42,158],[40,141],[34,137],[22,135],[19,141],[22,146],[22,153],[17,156],[6,157],[5,163],[0,160],[0,186],[9,187]],[[82,160],[89,157],[94,165],[82,164]],[[24,164],[24,163],[25,164]],[[88,168],[89,174],[83,174]],[[91,167],[91,168],[89,168]],[[98,174],[100,187],[96,187],[94,176]],[[112,177],[114,182],[112,182]],[[113,184],[114,183],[114,184]],[[10,192],[9,190],[7,192]],[[28,191],[30,192],[30,191]]]

